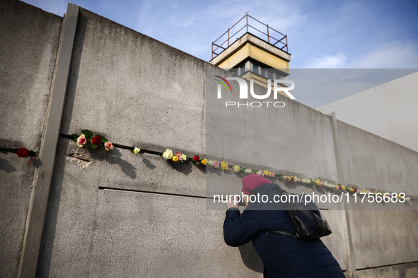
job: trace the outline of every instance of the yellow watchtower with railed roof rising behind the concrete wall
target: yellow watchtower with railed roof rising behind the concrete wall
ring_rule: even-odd
[[[287,35],[246,13],[212,42],[210,63],[267,87],[289,75],[290,55]]]

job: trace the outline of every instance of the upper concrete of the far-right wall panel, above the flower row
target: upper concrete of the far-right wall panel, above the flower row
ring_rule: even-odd
[[[418,152],[337,121],[347,185],[418,196]]]

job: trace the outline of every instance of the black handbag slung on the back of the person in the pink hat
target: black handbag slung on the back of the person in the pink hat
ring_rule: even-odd
[[[318,206],[306,203],[304,195],[299,195],[300,202],[286,203],[287,213],[291,219],[291,225],[295,234],[286,231],[267,231],[267,234],[284,234],[299,239],[309,240],[320,238],[332,233],[327,220],[320,214]]]

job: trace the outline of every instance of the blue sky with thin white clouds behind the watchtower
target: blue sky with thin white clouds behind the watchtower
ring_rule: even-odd
[[[24,2],[59,16],[66,13],[68,3]],[[287,35],[290,68],[418,68],[417,0],[72,0],[71,3],[204,61],[211,60],[211,43],[248,12]],[[315,107],[342,97],[347,94],[304,102]]]

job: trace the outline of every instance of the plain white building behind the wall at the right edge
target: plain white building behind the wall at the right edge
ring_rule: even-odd
[[[418,72],[317,110],[418,152]]]

